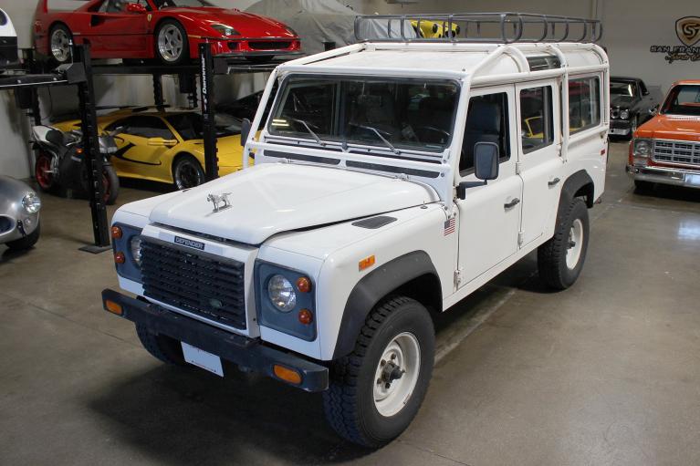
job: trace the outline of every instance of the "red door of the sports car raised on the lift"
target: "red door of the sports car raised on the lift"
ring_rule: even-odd
[[[150,13],[127,11],[127,5],[143,6],[151,11],[148,0],[105,0],[89,19],[88,36],[99,57],[147,57]],[[126,55],[125,55],[126,54]]]

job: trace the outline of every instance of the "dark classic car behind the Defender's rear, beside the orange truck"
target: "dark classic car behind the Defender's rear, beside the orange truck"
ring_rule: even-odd
[[[640,78],[610,78],[610,134],[631,138],[661,103],[661,89],[647,88]]]

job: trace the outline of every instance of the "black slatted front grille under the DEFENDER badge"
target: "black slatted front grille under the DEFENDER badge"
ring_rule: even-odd
[[[245,264],[152,239],[143,241],[141,254],[145,296],[246,329]]]

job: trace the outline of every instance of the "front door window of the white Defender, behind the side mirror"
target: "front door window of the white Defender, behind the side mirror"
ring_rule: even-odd
[[[469,100],[465,139],[462,140],[461,175],[474,170],[474,146],[477,142],[495,142],[500,161],[510,159],[508,130],[508,95],[505,92],[476,96]]]

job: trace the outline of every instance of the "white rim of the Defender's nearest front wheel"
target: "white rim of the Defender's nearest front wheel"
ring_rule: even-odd
[[[409,332],[394,337],[384,348],[374,371],[374,406],[388,418],[402,410],[418,381],[421,347]]]

